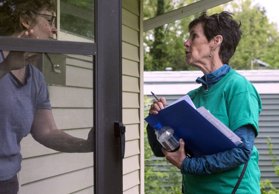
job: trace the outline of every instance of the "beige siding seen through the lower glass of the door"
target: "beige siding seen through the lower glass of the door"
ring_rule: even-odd
[[[57,128],[87,139],[93,126],[93,58],[68,55],[66,86],[48,88]],[[93,153],[57,152],[30,134],[21,141],[21,153],[20,194],[93,193]]]

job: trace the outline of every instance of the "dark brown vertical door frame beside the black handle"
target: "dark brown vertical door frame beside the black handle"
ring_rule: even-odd
[[[122,193],[122,158],[114,122],[122,122],[122,1],[95,0],[94,193]]]

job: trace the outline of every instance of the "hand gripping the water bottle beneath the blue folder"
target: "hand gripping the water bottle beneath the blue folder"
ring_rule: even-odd
[[[182,162],[185,159],[186,155],[184,151],[185,143],[183,139],[179,140],[179,144],[179,149],[176,152],[168,152],[164,147],[162,148],[162,152],[165,154],[166,160],[180,170]]]

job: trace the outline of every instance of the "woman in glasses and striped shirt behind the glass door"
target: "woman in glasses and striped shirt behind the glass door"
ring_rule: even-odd
[[[2,0],[0,36],[52,40],[57,33],[54,12],[53,0]],[[28,54],[0,51],[1,194],[18,192],[20,141],[29,132],[40,144],[60,152],[93,151],[93,128],[87,140],[57,129],[47,84],[31,64],[38,57]]]

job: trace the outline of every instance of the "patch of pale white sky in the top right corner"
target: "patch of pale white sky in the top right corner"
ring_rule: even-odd
[[[254,4],[259,3],[266,9],[268,21],[277,23],[279,29],[279,1],[278,0],[254,0]]]

